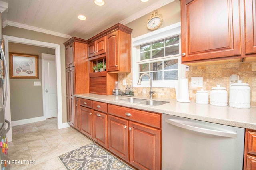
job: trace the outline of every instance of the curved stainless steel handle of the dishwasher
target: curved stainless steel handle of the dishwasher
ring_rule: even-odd
[[[213,130],[213,129],[208,129],[208,128],[201,128],[201,127],[186,125],[186,124],[181,123],[175,119],[165,119],[165,121],[171,125],[174,125],[174,126],[177,126],[180,128],[185,128],[188,130],[192,130],[195,132],[212,134],[215,136],[223,136],[223,137],[227,137],[227,138],[236,138],[237,137],[237,134],[234,132],[226,132],[226,131]]]

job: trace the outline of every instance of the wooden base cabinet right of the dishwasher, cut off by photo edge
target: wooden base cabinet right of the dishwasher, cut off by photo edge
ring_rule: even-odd
[[[246,129],[244,142],[244,170],[256,169],[256,130]]]

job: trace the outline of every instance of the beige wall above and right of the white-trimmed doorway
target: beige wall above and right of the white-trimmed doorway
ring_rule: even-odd
[[[13,27],[13,26],[6,26],[3,29],[3,34],[8,35],[8,36],[26,38],[26,39],[30,39],[30,40],[37,40],[37,41],[42,41],[42,42],[60,44],[61,77],[62,77],[61,78],[62,122],[65,123],[67,121],[67,116],[66,116],[66,83],[65,83],[66,82],[66,78],[65,78],[65,46],[63,45],[63,43],[66,42],[68,39],[58,37],[58,36],[53,36],[50,34],[44,34],[44,33],[36,32],[36,31],[17,28],[17,27]]]

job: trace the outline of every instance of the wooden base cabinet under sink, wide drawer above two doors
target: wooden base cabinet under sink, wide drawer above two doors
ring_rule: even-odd
[[[161,114],[108,104],[108,148],[138,169],[161,169]]]

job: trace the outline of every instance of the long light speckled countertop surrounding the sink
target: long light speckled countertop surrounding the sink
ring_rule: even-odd
[[[131,107],[134,109],[141,109],[150,112],[164,113],[168,115],[186,117],[200,121],[207,121],[212,123],[219,123],[222,125],[230,125],[234,127],[250,128],[256,130],[256,107],[250,109],[238,109],[229,106],[213,106],[210,104],[197,104],[196,102],[180,103],[176,100],[156,99],[160,101],[168,101],[169,103],[160,106],[149,106],[139,103],[130,103],[125,101],[118,101],[119,99],[129,98],[127,96],[114,95],[96,95],[96,94],[77,94],[76,97],[83,99],[90,99],[113,105],[120,105],[124,107]],[[148,99],[144,97],[134,97],[140,99]]]

